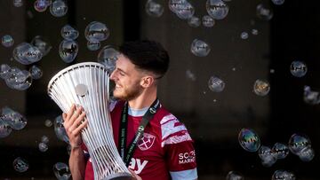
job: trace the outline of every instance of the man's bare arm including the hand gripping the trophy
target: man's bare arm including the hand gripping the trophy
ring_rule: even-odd
[[[87,125],[87,121],[84,118],[85,113],[82,107],[71,106],[68,113],[62,113],[63,126],[66,129],[69,143],[71,145],[71,153],[69,158],[69,168],[71,171],[72,179],[82,180],[84,179],[85,172],[85,159],[84,151],[81,148],[82,138],[81,130]]]

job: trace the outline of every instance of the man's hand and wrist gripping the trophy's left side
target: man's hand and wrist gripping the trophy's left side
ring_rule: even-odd
[[[82,144],[81,130],[84,129],[88,121],[85,118],[82,106],[72,105],[68,113],[62,113],[63,126],[66,129],[71,147],[79,147]]]

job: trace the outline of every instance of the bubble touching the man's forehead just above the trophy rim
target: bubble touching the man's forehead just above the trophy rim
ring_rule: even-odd
[[[108,71],[111,73],[115,70],[116,59],[119,55],[119,52],[113,46],[107,45],[102,48],[98,54],[98,62],[103,64]]]

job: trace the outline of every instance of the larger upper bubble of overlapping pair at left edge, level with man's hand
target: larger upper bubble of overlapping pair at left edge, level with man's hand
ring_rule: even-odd
[[[8,124],[12,129],[15,130],[23,129],[27,125],[27,119],[25,117],[7,106],[2,109],[1,117],[4,123]]]

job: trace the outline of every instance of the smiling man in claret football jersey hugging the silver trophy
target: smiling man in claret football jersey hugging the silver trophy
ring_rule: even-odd
[[[124,43],[119,51],[110,74],[116,83],[113,96],[119,100],[110,103],[110,112],[124,162],[136,179],[196,179],[196,153],[188,130],[156,97],[158,81],[169,67],[167,51],[152,41]],[[93,179],[91,160],[81,147],[80,132],[88,123],[84,117],[82,107],[63,113],[73,179]]]

